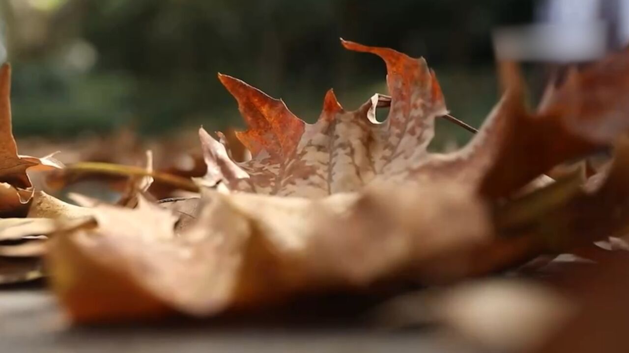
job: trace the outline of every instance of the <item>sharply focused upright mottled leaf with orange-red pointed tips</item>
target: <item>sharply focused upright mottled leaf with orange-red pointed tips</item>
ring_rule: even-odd
[[[377,176],[403,181],[425,163],[433,121],[447,112],[435,75],[425,60],[347,41],[343,45],[376,53],[387,63],[392,99],[387,121],[376,121],[377,95],[357,111],[347,112],[330,90],[318,121],[306,124],[281,100],[219,75],[247,121],[249,129],[237,136],[252,152],[252,160],[236,163],[250,178],[238,177],[227,165],[220,170],[231,188],[322,197],[360,190]],[[214,157],[206,153],[206,160]],[[217,176],[220,174],[213,173],[213,179]]]

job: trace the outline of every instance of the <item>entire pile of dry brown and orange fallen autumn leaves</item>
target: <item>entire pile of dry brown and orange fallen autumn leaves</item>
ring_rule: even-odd
[[[196,175],[153,170],[150,153],[145,167],[18,155],[4,65],[0,281],[47,276],[72,320],[101,322],[211,317],[383,287],[449,288],[441,286],[535,271],[559,254],[601,263],[601,271],[620,261],[629,226],[629,52],[569,70],[537,109],[527,106],[517,70],[504,65],[503,97],[482,128],[464,148],[440,154],[426,147],[448,110],[425,60],[343,46],[384,60],[389,95],[347,111],[330,90],[319,119],[306,124],[282,100],[219,75],[248,130],[235,133],[238,141],[217,133],[217,141],[200,129],[206,172]],[[389,115],[379,122],[384,106]],[[595,155],[607,157],[594,163]],[[52,183],[124,176],[120,200],[73,194],[69,204],[34,190],[27,171],[50,169]],[[151,191],[157,182],[186,197],[161,199]]]

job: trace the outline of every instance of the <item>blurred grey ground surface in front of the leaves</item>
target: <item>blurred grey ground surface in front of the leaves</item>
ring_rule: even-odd
[[[0,352],[447,352],[473,353],[432,331],[395,334],[337,325],[215,325],[186,320],[152,325],[72,327],[42,288],[0,290]]]

